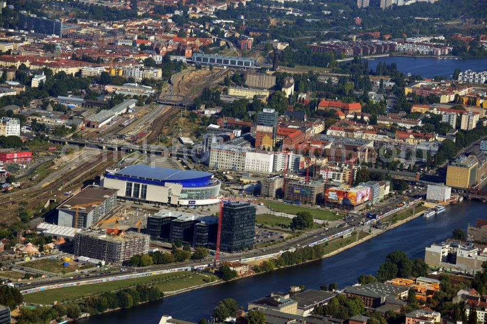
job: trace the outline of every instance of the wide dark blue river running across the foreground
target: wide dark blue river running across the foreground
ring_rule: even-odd
[[[332,257],[303,265],[262,273],[229,283],[198,289],[147,303],[78,320],[80,324],[157,324],[162,315],[197,322],[211,316],[218,301],[234,298],[246,308],[248,302],[272,291],[287,290],[292,285],[319,289],[323,283],[336,282],[338,288],[356,283],[360,274],[374,274],[387,254],[395,250],[410,257],[424,257],[425,246],[451,237],[451,232],[485,216],[487,205],[478,200],[464,200],[437,216],[417,217],[384,234]]]

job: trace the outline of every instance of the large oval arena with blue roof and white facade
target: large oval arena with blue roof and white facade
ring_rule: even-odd
[[[120,199],[175,206],[219,203],[221,185],[210,172],[142,164],[107,170],[101,181],[103,186],[118,190]]]

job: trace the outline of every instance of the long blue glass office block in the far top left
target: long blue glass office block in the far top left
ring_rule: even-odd
[[[37,17],[33,14],[28,15],[25,11],[19,13],[19,29],[62,37],[67,34],[71,28],[75,28],[74,25],[67,24],[58,19]]]

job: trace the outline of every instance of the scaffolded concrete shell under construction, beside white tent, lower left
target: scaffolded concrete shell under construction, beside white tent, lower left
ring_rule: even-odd
[[[122,264],[132,256],[149,252],[149,235],[109,229],[75,234],[75,257],[87,256]]]

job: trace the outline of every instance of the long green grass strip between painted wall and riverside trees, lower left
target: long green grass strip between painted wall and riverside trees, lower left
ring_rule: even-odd
[[[181,271],[100,284],[44,290],[24,295],[24,302],[49,305],[55,301],[72,300],[81,296],[86,297],[105,291],[128,288],[138,284],[151,284],[151,286],[157,287],[162,291],[175,291],[202,285],[205,283],[203,279],[205,279],[205,275],[203,274]]]

